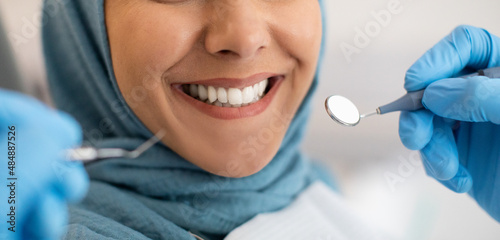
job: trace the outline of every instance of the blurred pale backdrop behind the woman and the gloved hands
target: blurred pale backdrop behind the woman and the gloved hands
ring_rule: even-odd
[[[324,99],[332,94],[350,98],[362,113],[400,97],[406,70],[460,24],[500,36],[500,1],[324,1],[327,44],[304,151],[335,173],[339,190],[359,215],[396,237],[500,239],[500,224],[468,195],[455,194],[425,175],[418,153],[405,149],[398,138],[399,114],[373,116],[353,128],[337,125],[324,110]],[[2,0],[0,16],[26,92],[48,101],[41,2]],[[384,11],[390,18],[377,20]],[[366,34],[367,26],[368,41],[357,43],[355,37]],[[348,48],[354,51],[343,50]],[[390,181],[395,177],[398,182]]]

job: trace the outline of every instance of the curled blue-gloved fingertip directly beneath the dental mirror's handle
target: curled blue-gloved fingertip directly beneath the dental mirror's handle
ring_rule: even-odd
[[[432,137],[434,114],[427,109],[403,111],[399,116],[399,137],[411,150],[424,148]]]

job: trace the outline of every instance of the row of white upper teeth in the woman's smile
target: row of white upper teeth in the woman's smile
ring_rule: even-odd
[[[268,79],[264,79],[253,86],[248,86],[243,89],[238,88],[223,88],[205,86],[201,84],[190,84],[188,93],[201,101],[207,101],[218,106],[241,106],[258,101],[266,90]],[[186,89],[187,90],[187,89]]]

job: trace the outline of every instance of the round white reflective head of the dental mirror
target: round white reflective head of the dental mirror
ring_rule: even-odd
[[[358,108],[349,99],[333,95],[326,99],[325,108],[328,115],[336,122],[345,126],[355,126],[359,123]]]

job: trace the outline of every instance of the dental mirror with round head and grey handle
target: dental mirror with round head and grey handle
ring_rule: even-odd
[[[461,76],[461,78],[468,78],[474,76],[486,76],[488,78],[500,78],[500,67],[488,68],[479,70],[477,73]],[[358,108],[349,99],[340,96],[332,95],[326,98],[325,108],[330,117],[337,123],[344,126],[356,126],[361,118],[366,118],[373,115],[382,115],[396,111],[414,111],[424,108],[422,105],[422,97],[424,91],[408,92],[399,99],[378,107],[374,112],[359,114]]]

